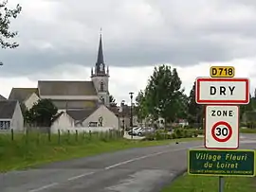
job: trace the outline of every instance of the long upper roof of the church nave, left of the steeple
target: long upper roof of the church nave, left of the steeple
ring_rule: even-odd
[[[97,96],[92,81],[39,80],[40,96]]]

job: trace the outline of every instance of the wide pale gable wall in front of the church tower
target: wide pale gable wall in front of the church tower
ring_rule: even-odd
[[[90,122],[99,122],[99,118],[102,116],[102,127],[110,127],[115,130],[119,129],[119,118],[108,110],[105,106],[101,105],[101,107],[92,113],[88,118],[86,118],[82,122],[83,127],[88,127]]]

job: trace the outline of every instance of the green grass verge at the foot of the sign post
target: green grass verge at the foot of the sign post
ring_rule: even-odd
[[[227,177],[224,192],[256,192],[256,178]],[[183,175],[162,192],[216,192],[218,177]]]

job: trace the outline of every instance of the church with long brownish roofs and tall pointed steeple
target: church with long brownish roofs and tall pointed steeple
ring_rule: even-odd
[[[37,99],[49,98],[59,112],[97,107],[101,103],[109,106],[109,68],[103,59],[102,41],[91,80],[39,80],[37,88],[12,88],[9,99],[23,102],[29,109]]]

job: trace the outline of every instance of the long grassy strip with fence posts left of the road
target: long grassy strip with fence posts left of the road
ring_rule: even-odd
[[[179,141],[192,141],[200,138],[184,138]],[[136,141],[126,140],[117,132],[97,134],[58,135],[29,133],[0,135],[0,172],[38,166],[50,162],[91,156],[126,148],[140,148],[165,145],[177,140]]]

